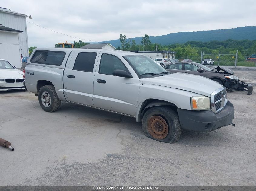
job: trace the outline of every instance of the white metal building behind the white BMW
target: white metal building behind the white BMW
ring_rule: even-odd
[[[26,14],[0,8],[0,26],[13,29],[0,30],[0,58],[8,60],[17,68],[22,67],[21,54],[24,57],[29,56],[27,17]],[[17,56],[18,58],[16,58]]]

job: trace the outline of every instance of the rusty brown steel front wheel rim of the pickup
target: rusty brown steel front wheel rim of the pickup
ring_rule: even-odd
[[[148,132],[157,139],[163,139],[168,135],[168,124],[160,116],[152,116],[148,121]]]

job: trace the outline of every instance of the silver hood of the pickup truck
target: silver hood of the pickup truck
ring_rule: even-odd
[[[142,78],[140,81],[142,82]],[[208,97],[211,96],[212,92],[222,87],[208,78],[179,72],[154,78],[144,78],[143,83],[191,91]]]

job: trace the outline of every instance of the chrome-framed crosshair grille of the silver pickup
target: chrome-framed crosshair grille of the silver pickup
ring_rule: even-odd
[[[220,112],[228,102],[226,88],[221,87],[211,94],[211,110],[214,113]]]

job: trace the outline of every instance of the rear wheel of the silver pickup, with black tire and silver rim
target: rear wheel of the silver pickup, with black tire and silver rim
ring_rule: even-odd
[[[48,97],[45,95],[47,95]],[[42,98],[45,100],[46,100],[46,98],[49,98],[50,104],[47,103],[46,101],[43,102]],[[55,91],[55,88],[52,85],[47,85],[47,86],[43,86],[42,88],[40,88],[40,90],[38,92],[38,101],[39,101],[41,108],[47,112],[57,111],[61,105],[61,100],[59,100],[57,93]],[[45,105],[48,105],[48,107],[46,107]]]

